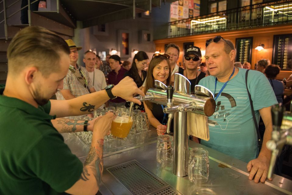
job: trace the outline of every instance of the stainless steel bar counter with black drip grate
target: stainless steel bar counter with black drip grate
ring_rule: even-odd
[[[172,173],[172,165],[163,167],[156,162],[155,133],[152,127],[144,135],[147,138],[137,138],[141,141],[114,149],[105,144],[101,194],[292,194],[291,180],[274,175],[273,181],[254,183],[248,179],[247,163],[193,141],[189,147],[209,151],[208,182],[194,184],[188,177],[177,177]],[[65,143],[84,161],[88,149],[74,145],[73,138],[68,137],[71,136],[65,137]]]

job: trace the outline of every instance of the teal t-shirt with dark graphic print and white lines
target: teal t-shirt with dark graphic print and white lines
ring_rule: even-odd
[[[208,118],[210,140],[201,140],[201,144],[248,162],[257,157],[258,145],[245,85],[245,72],[246,69],[239,68],[237,75],[229,80],[216,99],[215,112]],[[215,79],[214,76],[207,76],[200,80],[199,85],[207,87],[214,93]],[[215,97],[224,83],[217,81]],[[259,123],[259,110],[278,102],[268,79],[259,71],[248,72],[248,90]]]

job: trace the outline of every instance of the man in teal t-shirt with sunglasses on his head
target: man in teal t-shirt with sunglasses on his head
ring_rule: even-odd
[[[210,140],[201,140],[201,144],[247,162],[248,178],[265,182],[271,157],[266,148],[272,133],[271,106],[277,104],[273,89],[264,74],[253,70],[248,72],[246,85],[246,70],[234,67],[234,45],[221,36],[206,42],[205,58],[211,76],[199,84],[214,93],[216,110],[209,117]],[[262,116],[266,126],[260,153],[246,86],[256,121]]]

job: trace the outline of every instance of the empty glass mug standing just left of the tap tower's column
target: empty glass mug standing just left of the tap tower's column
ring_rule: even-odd
[[[161,135],[157,138],[156,161],[162,165],[169,165],[173,162],[173,137]]]

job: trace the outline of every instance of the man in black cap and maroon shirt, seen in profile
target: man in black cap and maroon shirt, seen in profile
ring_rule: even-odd
[[[127,70],[121,66],[121,58],[118,55],[111,55],[109,62],[112,71],[107,75],[107,84],[116,85],[124,78],[124,74],[127,72]],[[111,99],[109,106],[124,106],[125,102],[126,101],[124,99],[118,97]]]

